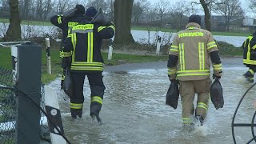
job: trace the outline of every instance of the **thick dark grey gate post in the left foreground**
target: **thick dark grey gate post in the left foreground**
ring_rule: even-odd
[[[40,106],[42,46],[24,43],[18,48],[17,88],[18,92],[16,143],[40,143]]]

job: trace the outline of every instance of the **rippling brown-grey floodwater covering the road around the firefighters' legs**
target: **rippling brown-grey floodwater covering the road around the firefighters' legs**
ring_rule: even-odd
[[[106,93],[100,116],[102,125],[91,125],[90,89],[86,80],[85,102],[82,118],[70,118],[69,100],[63,100],[59,90],[60,79],[49,86],[56,88],[66,137],[74,144],[84,143],[178,143],[178,144],[231,144],[231,122],[242,94],[252,85],[242,74],[246,67],[242,58],[222,58],[225,105],[215,110],[210,102],[204,126],[191,132],[182,129],[182,106],[174,110],[165,105],[166,91],[170,85],[166,62],[107,66],[103,81]],[[253,88],[242,102],[235,122],[250,123],[255,111]],[[251,138],[250,127],[235,127],[237,143]]]

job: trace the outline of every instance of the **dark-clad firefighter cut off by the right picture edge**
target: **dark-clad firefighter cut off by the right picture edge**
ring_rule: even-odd
[[[243,64],[249,67],[249,70],[243,76],[248,82],[254,82],[254,74],[256,72],[256,31],[246,38],[246,41],[242,43],[242,48]]]

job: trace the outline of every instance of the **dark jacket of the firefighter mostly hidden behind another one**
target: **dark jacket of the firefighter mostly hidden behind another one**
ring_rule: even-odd
[[[82,14],[77,14],[71,18],[65,18],[62,15],[54,15],[50,18],[50,22],[62,30],[62,46],[67,35],[70,33],[72,26],[77,25],[83,18],[85,17]],[[63,58],[62,46],[60,48],[60,58]]]

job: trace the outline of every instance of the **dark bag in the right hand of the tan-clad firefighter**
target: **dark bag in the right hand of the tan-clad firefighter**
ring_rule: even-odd
[[[215,78],[210,86],[210,99],[214,103],[216,110],[224,106],[222,85],[218,78]]]

